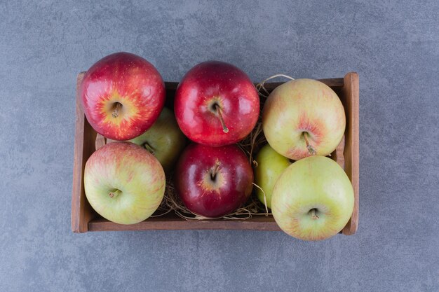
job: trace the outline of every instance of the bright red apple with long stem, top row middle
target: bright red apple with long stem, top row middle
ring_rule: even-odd
[[[212,105],[221,107],[229,132],[223,131]],[[192,141],[208,146],[234,144],[257,123],[259,95],[250,78],[234,65],[208,61],[190,69],[178,85],[175,117]]]

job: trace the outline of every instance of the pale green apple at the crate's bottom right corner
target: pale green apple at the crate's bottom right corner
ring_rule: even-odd
[[[298,160],[274,186],[271,211],[292,237],[322,240],[336,235],[353,211],[353,188],[337,162],[324,156]]]

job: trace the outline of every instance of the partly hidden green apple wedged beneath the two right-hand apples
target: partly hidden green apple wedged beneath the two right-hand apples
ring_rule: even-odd
[[[271,194],[273,193],[274,183],[276,183],[279,176],[285,168],[291,165],[288,158],[271,148],[269,144],[262,147],[256,155],[257,167],[255,167],[255,183],[259,188],[256,188],[256,195],[262,204],[264,202],[264,193],[266,197],[266,207],[271,209]]]

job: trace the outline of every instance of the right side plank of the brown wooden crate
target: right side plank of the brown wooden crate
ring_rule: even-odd
[[[351,220],[343,229],[344,235],[353,235],[358,228],[358,196],[359,196],[359,85],[358,74],[351,72],[344,76],[343,88],[346,109],[346,146],[344,148],[344,171],[351,179],[354,193],[353,213]]]

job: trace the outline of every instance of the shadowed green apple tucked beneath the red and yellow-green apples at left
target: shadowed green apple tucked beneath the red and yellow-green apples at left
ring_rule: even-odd
[[[107,139],[107,143],[112,141]],[[163,107],[160,116],[147,132],[129,141],[156,156],[166,172],[175,165],[186,145],[186,137],[178,127],[173,111],[167,107]]]

